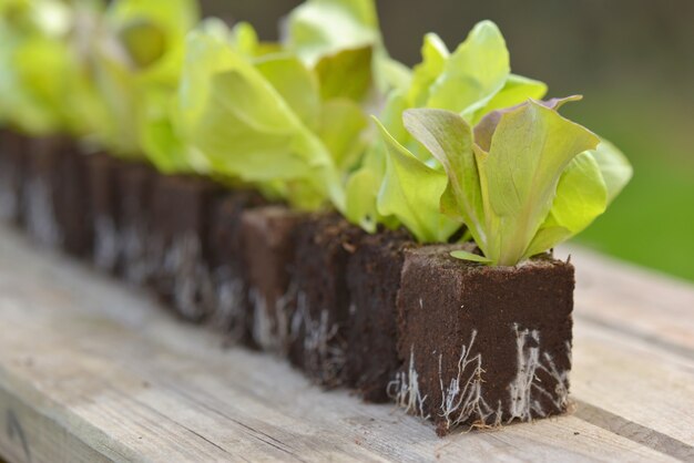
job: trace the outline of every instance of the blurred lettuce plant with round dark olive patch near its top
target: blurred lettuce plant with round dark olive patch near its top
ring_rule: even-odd
[[[156,134],[166,128],[162,120],[177,89],[184,39],[198,17],[195,0],[110,4],[92,53],[95,81],[109,113],[96,132],[114,154],[146,154],[162,169],[172,171],[166,148],[175,146],[163,148]]]

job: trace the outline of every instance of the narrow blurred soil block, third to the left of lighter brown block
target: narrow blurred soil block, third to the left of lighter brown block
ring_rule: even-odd
[[[123,162],[118,169],[119,270],[130,284],[150,281],[153,268],[149,257],[152,187],[159,174],[149,164]]]

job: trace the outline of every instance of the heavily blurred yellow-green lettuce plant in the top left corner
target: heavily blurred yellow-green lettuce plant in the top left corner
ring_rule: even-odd
[[[7,123],[33,135],[93,131],[103,111],[82,39],[99,11],[88,1],[0,2],[0,111]]]

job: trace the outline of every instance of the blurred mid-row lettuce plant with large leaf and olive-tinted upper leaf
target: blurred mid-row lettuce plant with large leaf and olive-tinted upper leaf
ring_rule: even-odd
[[[212,172],[300,209],[345,209],[344,176],[368,127],[363,104],[379,45],[371,0],[313,0],[288,18],[284,43],[259,52],[218,34],[188,37],[181,119]]]

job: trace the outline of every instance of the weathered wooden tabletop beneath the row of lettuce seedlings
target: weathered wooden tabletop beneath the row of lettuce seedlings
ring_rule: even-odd
[[[0,229],[0,460],[694,461],[694,288],[572,254],[573,413],[441,440]]]

